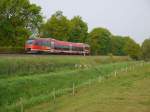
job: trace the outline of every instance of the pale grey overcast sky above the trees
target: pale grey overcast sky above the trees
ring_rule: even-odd
[[[142,43],[150,37],[150,0],[30,0],[42,7],[46,19],[63,11],[69,19],[81,16],[89,32],[95,27],[114,35],[131,36]]]

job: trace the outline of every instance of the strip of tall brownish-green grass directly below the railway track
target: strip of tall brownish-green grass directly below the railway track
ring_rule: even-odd
[[[129,60],[129,57],[116,56],[4,55],[0,56],[0,77],[74,70],[76,64],[94,66]]]

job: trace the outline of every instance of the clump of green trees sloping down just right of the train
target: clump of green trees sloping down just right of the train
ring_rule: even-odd
[[[88,42],[91,45],[92,54],[129,55],[133,59],[139,59],[141,56],[140,45],[131,37],[114,36],[104,28],[93,29],[89,33]]]

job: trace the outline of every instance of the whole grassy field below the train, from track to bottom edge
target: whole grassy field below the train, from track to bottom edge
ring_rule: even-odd
[[[146,111],[149,67],[129,57],[1,55],[0,111],[119,112],[134,102]]]

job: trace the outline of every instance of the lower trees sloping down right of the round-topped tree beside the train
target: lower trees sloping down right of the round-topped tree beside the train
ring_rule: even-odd
[[[131,37],[112,36],[111,52],[119,56],[129,55],[133,59],[139,59],[141,56],[140,45]]]

